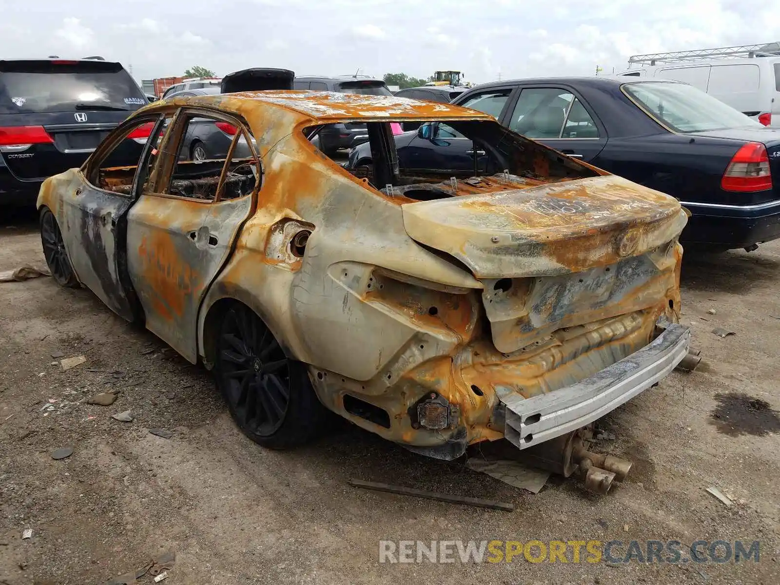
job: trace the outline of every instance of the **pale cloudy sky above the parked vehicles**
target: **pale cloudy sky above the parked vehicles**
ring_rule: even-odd
[[[0,58],[103,55],[139,80],[200,65],[219,75],[460,69],[481,83],[771,41],[780,41],[776,0],[5,0],[0,19]]]

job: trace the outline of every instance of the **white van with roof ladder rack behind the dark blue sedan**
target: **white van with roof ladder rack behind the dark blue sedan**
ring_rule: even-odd
[[[780,127],[780,43],[633,55],[618,75],[682,81]]]

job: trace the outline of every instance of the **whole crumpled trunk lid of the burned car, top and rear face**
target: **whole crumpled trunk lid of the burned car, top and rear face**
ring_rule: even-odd
[[[559,329],[665,305],[676,286],[674,244],[687,221],[674,198],[617,176],[423,201],[402,211],[413,239],[480,278],[502,353],[544,346]]]

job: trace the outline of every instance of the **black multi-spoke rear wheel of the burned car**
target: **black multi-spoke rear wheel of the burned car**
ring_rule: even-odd
[[[241,431],[271,449],[300,445],[321,430],[327,411],[303,363],[290,360],[268,327],[236,303],[217,339],[217,386]]]

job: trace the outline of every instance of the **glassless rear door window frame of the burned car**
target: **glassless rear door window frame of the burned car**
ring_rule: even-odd
[[[207,118],[214,119],[221,122],[228,122],[232,126],[236,126],[238,132],[233,137],[228,149],[228,154],[225,155],[225,163],[222,165],[222,171],[220,171],[219,182],[215,197],[212,200],[197,199],[193,197],[181,197],[180,195],[174,195],[168,193],[170,189],[171,181],[173,177],[174,168],[179,162],[179,146],[181,141],[184,140],[186,135],[185,121],[193,118]],[[236,150],[240,138],[243,137],[246,140],[246,146],[254,158],[254,164],[257,165],[257,176],[255,179],[254,189],[251,193],[247,193],[242,197],[252,197],[253,201],[257,200],[257,193],[260,192],[265,176],[264,167],[260,156],[257,154],[257,150],[254,147],[254,140],[251,138],[254,135],[249,129],[249,125],[242,118],[237,115],[231,115],[219,110],[211,108],[201,108],[193,106],[183,106],[179,108],[176,115],[173,117],[168,131],[165,133],[165,137],[160,144],[159,150],[161,153],[160,158],[154,165],[154,170],[151,172],[149,179],[149,190],[144,191],[144,194],[151,195],[153,197],[166,197],[169,199],[197,201],[201,204],[215,204],[222,201],[222,187],[225,183],[225,177],[227,176],[227,169],[229,168],[230,161],[232,160],[232,154]]]

